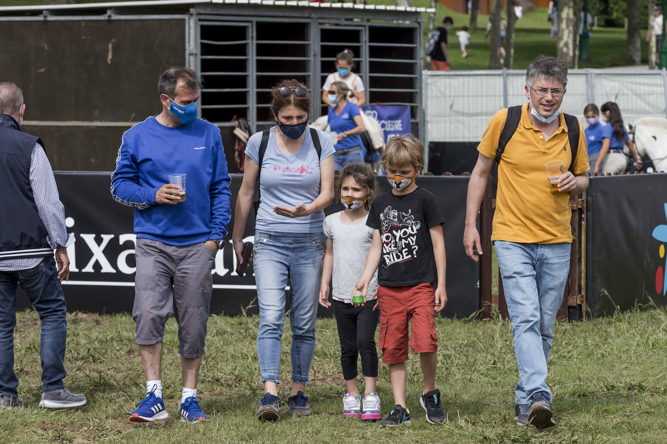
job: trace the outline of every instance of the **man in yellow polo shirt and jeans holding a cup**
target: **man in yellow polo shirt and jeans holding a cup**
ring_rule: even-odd
[[[552,329],[570,270],[574,237],[569,195],[588,188],[584,129],[579,123],[579,144],[573,159],[568,126],[560,111],[567,83],[568,69],[554,57],[540,56],[526,71],[528,103],[522,107],[520,122],[498,163],[491,237],[519,368],[516,421],[538,429],[556,425],[545,380],[554,339]],[[508,109],[502,109],[491,118],[477,148],[480,155],[468,184],[464,247],[475,261],[476,254],[482,254],[476,218],[507,115]],[[563,161],[558,190],[552,189],[545,167],[551,160]]]

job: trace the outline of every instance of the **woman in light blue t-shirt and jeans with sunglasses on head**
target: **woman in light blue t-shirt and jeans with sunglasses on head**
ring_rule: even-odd
[[[307,130],[309,91],[299,81],[283,80],[271,96],[271,114],[277,124],[248,139],[231,235],[236,259],[243,264],[245,222],[259,182],[253,268],[259,304],[257,355],[264,386],[256,415],[263,421],[279,419],[278,373],[288,282],[289,414],[312,413],[304,391],[315,353],[315,316],[326,248],[323,209],[333,202],[333,144],[325,132]]]

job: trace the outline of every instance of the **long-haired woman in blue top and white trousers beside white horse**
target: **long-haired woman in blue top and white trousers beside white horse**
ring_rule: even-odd
[[[593,173],[600,170],[605,174],[608,172],[612,174],[624,172],[628,166],[626,156],[623,154],[623,147],[626,144],[630,148],[630,154],[634,159],[632,165],[637,170],[642,169],[642,160],[640,160],[634,143],[628,136],[628,130],[623,126],[623,118],[618,105],[614,102],[606,102],[600,107],[600,111],[602,111],[602,117],[608,123],[602,127],[602,148],[600,148],[598,160],[595,161]]]

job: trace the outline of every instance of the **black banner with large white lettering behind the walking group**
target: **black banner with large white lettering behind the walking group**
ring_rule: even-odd
[[[70,312],[115,313],[132,310],[136,266],[133,209],[111,198],[109,176],[110,173],[102,172],[55,174],[61,201],[65,205],[68,231],[76,237],[75,244],[68,248],[70,280],[63,283]],[[235,196],[241,180],[242,175],[232,174],[230,232]],[[380,176],[378,180],[383,191],[390,189],[386,178]],[[479,269],[465,256],[462,247],[468,177],[421,176],[418,184],[436,195],[446,220],[444,234],[449,302],[443,314],[458,318],[470,316],[479,310]],[[343,206],[334,203],[325,212],[331,214],[341,210]],[[250,219],[244,240],[252,242],[253,232],[254,220]],[[225,241],[225,248],[217,254],[213,268],[211,314],[238,315],[244,310],[255,314],[257,292],[252,267],[245,276],[239,277],[234,271],[236,258],[231,248],[231,233]],[[25,295],[19,298],[19,306],[29,306]],[[320,316],[332,314],[332,310],[320,307]]]

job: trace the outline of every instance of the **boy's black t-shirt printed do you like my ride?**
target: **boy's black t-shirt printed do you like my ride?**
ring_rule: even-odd
[[[428,229],[444,223],[436,196],[424,188],[402,196],[390,190],[376,197],[366,225],[380,230],[382,238],[378,284],[435,284],[438,273]]]

